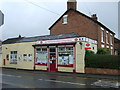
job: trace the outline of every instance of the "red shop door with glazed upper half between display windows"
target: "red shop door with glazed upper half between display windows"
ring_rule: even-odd
[[[56,72],[56,48],[50,48],[50,72]]]

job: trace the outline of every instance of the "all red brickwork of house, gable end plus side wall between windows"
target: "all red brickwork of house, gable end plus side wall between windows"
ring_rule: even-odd
[[[81,14],[74,12],[73,10],[69,11],[66,15],[68,15],[68,23],[62,24],[63,18],[60,19],[50,30],[50,34],[64,34],[75,32],[80,34],[80,36],[86,36],[91,39],[95,39],[98,41],[98,48],[101,48],[101,44],[109,46],[110,45],[110,33],[109,35],[109,44],[106,43],[106,30],[104,30],[104,43],[101,43],[101,26],[94,23],[92,20],[82,16]],[[114,47],[114,35],[113,35],[113,45]],[[110,49],[111,50],[111,49]],[[113,49],[114,52],[114,49]]]

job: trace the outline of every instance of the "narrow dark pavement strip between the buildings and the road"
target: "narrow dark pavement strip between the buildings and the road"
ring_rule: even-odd
[[[6,69],[6,68],[3,68]],[[10,69],[10,68],[7,68]],[[22,70],[22,69],[17,69]],[[33,70],[23,70],[33,72]],[[109,79],[109,80],[118,80],[120,81],[120,75],[107,75],[107,74],[84,74],[84,73],[69,73],[69,72],[47,72],[47,71],[39,71],[36,70],[34,73],[41,73],[41,74],[50,74],[50,75],[61,75],[61,76],[77,76],[83,78],[95,78],[95,79]]]

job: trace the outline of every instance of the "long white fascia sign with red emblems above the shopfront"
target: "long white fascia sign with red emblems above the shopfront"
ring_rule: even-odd
[[[56,44],[56,43],[78,42],[78,41],[80,41],[79,38],[68,38],[68,39],[37,41],[36,44]]]

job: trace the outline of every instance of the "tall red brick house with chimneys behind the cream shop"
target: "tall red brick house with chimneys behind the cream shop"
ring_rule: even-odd
[[[76,0],[68,0],[67,11],[49,28],[50,34],[75,32],[98,41],[98,48],[108,48],[114,53],[115,33],[97,20],[76,10]]]

